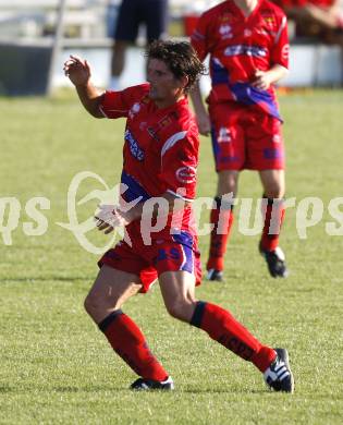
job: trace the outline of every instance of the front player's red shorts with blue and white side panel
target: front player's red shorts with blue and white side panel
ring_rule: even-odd
[[[143,284],[140,292],[144,293],[164,271],[188,271],[195,276],[197,286],[201,282],[200,253],[187,232],[170,235],[168,240],[156,240],[151,245],[133,241],[130,246],[121,241],[103,254],[98,265],[101,267],[103,264],[137,275]]]

